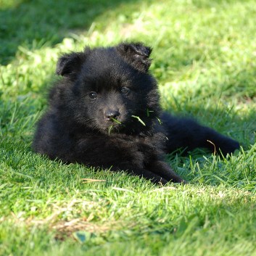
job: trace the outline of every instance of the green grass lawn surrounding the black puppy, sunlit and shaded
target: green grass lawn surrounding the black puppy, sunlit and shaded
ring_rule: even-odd
[[[0,0],[0,255],[256,255],[255,1],[59,3]],[[165,110],[241,150],[168,155],[189,184],[165,187],[34,154],[59,54],[121,40],[154,48]]]

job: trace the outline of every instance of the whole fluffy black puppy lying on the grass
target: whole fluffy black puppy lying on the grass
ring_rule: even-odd
[[[182,182],[165,152],[196,147],[234,152],[239,143],[193,120],[162,112],[144,44],[86,48],[57,63],[62,75],[38,123],[33,149],[51,159],[126,170],[154,183]]]

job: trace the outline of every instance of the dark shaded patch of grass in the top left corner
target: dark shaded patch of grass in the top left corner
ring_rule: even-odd
[[[11,8],[0,7],[0,64],[11,62],[19,46],[54,46],[70,30],[88,30],[104,12],[122,4],[126,9],[139,1],[142,0],[20,0]]]

